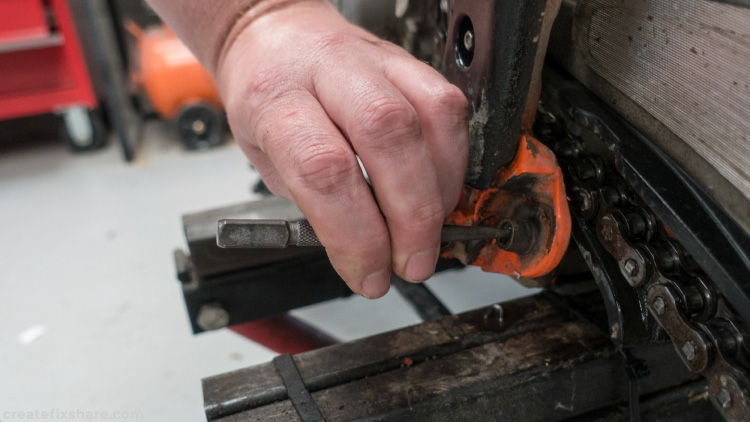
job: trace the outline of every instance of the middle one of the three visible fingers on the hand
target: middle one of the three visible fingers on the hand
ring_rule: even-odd
[[[317,74],[314,84],[370,177],[388,224],[394,271],[426,280],[435,270],[445,212],[417,111],[378,72],[341,66]]]

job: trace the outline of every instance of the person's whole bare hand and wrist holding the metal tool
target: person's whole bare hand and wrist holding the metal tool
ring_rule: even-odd
[[[212,12],[224,2],[150,3],[212,70],[242,150],[355,293],[383,296],[391,271],[432,276],[466,171],[458,88],[323,0],[227,1],[225,23]]]

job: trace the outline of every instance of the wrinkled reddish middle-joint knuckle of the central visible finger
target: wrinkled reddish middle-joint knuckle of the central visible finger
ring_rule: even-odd
[[[381,97],[371,101],[360,115],[355,132],[369,138],[368,148],[400,153],[421,132],[416,111],[397,99]]]

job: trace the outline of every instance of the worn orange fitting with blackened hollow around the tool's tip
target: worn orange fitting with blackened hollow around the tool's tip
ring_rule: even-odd
[[[557,267],[570,241],[570,211],[560,166],[541,142],[520,135],[515,160],[498,170],[493,187],[465,188],[447,222],[462,226],[498,226],[503,221],[524,221],[524,235],[534,241],[522,253],[502,250],[497,240],[449,245],[444,257],[484,271],[533,279]]]

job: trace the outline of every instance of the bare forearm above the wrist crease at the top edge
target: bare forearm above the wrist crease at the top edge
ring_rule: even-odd
[[[215,73],[223,51],[262,16],[295,3],[325,0],[147,0],[166,24]]]

